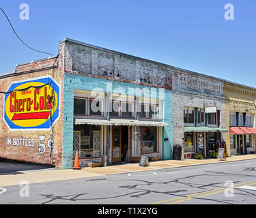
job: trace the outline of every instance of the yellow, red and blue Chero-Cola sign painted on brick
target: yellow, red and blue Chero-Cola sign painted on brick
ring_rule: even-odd
[[[12,83],[4,112],[10,129],[49,129],[59,117],[59,85],[51,77]]]

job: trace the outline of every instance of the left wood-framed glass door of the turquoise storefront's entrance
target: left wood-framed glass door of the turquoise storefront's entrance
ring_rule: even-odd
[[[121,162],[121,126],[112,127],[112,161]]]

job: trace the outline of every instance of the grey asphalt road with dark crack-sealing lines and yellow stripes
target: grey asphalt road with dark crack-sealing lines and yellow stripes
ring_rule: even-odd
[[[31,184],[28,196],[24,188],[0,188],[0,204],[256,204],[256,160]]]

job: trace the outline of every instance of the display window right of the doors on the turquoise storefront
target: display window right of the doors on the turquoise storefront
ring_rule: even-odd
[[[142,153],[157,152],[157,127],[142,127]]]

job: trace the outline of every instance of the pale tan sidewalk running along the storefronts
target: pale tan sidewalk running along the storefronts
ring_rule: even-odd
[[[150,166],[141,167],[139,163],[127,163],[99,168],[82,168],[81,170],[34,170],[20,171],[18,174],[0,175],[0,187],[19,185],[21,181],[27,181],[29,184],[46,183],[53,181],[64,181],[74,178],[88,178],[92,176],[102,176],[106,174],[119,174],[129,172],[139,172],[145,170],[159,170],[165,168],[179,168],[184,166],[197,166],[209,163],[225,163],[230,161],[242,161],[246,159],[255,159],[256,155],[241,155],[227,157],[226,161],[218,159],[185,159],[183,161],[165,160],[150,162]]]

